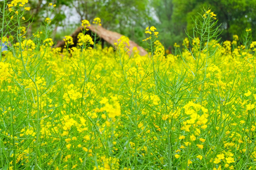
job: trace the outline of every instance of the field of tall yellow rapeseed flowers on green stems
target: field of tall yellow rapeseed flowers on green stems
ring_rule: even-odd
[[[256,169],[251,29],[219,43],[216,15],[207,9],[173,54],[165,54],[159,41],[165,34],[155,26],[143,29],[146,56],[128,51],[125,36],[103,49],[86,34],[70,49],[72,37],[65,36],[61,51],[53,48],[49,17],[30,37],[22,26],[31,10],[27,0],[8,7],[1,32],[8,50],[0,55],[0,169]],[[89,21],[82,25],[86,33]]]

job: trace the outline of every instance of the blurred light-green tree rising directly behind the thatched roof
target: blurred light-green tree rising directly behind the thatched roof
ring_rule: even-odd
[[[80,19],[92,21],[100,17],[102,26],[137,41],[144,36],[148,16],[148,0],[73,0]],[[141,38],[140,40],[142,40]],[[141,41],[137,41],[141,42]]]

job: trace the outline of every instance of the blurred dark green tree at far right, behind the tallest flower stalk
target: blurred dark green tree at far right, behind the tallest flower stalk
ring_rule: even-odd
[[[256,27],[256,1],[253,0],[173,0],[173,19],[178,30],[185,28],[191,33],[191,16],[198,16],[202,8],[210,8],[219,19],[221,37],[232,39],[233,34],[241,34],[246,28]],[[256,38],[256,30],[252,30]]]

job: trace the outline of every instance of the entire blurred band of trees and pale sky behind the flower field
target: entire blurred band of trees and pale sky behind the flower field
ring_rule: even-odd
[[[49,3],[56,5],[54,10],[49,11]],[[194,16],[199,17],[203,8],[217,14],[223,41],[232,40],[234,34],[241,36],[247,28],[252,29],[256,40],[256,0],[28,0],[28,7],[31,9],[26,22],[33,21],[29,31],[37,31],[50,17],[55,41],[72,34],[81,26],[81,20],[92,22],[100,17],[104,28],[124,34],[142,46],[145,28],[155,26],[168,49],[174,42],[182,44],[187,36],[185,30],[192,34]]]

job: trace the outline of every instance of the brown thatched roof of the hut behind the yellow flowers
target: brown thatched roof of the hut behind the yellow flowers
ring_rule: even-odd
[[[81,30],[82,30],[83,28],[84,28],[83,26],[78,27],[78,28],[73,32],[73,34],[70,35],[70,36],[73,37],[74,43],[77,42],[77,35],[82,32]],[[87,26],[86,28],[89,29],[89,32],[91,31],[91,32],[93,32],[93,33],[96,33],[96,34],[99,36],[99,38],[100,38],[101,40],[103,40],[103,41],[105,41],[105,42],[108,42],[108,43],[111,44],[114,48],[115,48],[114,43],[117,42],[117,40],[118,40],[121,36],[123,36],[122,34],[119,34],[119,33],[117,33],[117,32],[113,32],[113,31],[107,30],[107,29],[103,28],[102,26],[94,26],[94,25],[91,25],[91,26]],[[129,44],[130,44],[130,46],[129,46],[129,50],[130,50],[130,51],[132,51],[132,49],[133,49],[134,47],[137,47],[137,50],[139,51],[139,54],[140,54],[140,55],[144,56],[144,55],[147,54],[146,50],[144,50],[144,49],[143,49],[141,46],[139,46],[137,43],[135,43],[135,42],[129,40]],[[55,47],[62,47],[62,48],[64,48],[64,45],[65,45],[65,42],[64,42],[64,41],[61,41],[61,42],[58,42]]]

